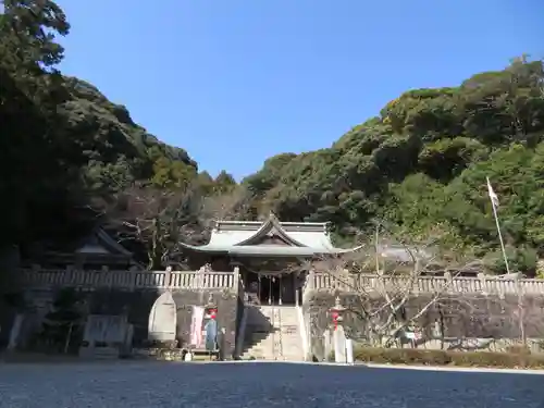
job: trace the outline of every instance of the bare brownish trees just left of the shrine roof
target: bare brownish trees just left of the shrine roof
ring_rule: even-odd
[[[199,245],[215,221],[245,214],[250,195],[242,187],[205,196],[198,185],[162,189],[134,185],[107,207],[110,223],[125,240],[141,245],[148,269],[162,268],[183,252],[181,243]]]

